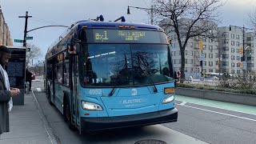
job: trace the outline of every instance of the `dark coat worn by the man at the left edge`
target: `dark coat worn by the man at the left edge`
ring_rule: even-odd
[[[10,131],[8,102],[10,90],[6,89],[5,82],[0,74],[0,134]]]

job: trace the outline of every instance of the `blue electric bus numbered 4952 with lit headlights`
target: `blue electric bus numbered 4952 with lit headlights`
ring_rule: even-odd
[[[177,122],[170,47],[158,26],[86,20],[46,53],[45,89],[70,128]]]

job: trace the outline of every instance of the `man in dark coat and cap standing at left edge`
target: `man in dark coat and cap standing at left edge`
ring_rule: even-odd
[[[4,67],[10,59],[10,50],[6,46],[0,46],[0,136],[9,132],[9,111],[12,107],[12,97],[18,96],[20,90],[11,88],[8,75]]]

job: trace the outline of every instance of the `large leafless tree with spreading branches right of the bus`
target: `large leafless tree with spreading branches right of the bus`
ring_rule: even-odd
[[[194,37],[214,38],[210,30],[217,30],[218,8],[221,0],[153,0],[154,12],[163,19],[160,26],[166,34],[175,32],[181,53],[181,73],[184,78],[185,48]]]

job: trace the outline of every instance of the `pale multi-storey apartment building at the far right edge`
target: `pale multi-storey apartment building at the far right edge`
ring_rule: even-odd
[[[226,74],[254,73],[255,33],[248,32],[240,26],[218,27],[220,48],[220,71]],[[243,50],[245,61],[243,62]],[[252,50],[252,54],[250,54]],[[246,66],[244,66],[246,65]]]

